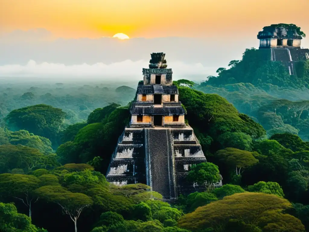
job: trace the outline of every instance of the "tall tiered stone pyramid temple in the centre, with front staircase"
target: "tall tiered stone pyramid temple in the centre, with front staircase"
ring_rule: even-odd
[[[186,182],[193,164],[206,162],[167,69],[165,54],[153,53],[144,80],[138,83],[131,121],[118,140],[106,178],[118,186],[144,183],[174,200],[198,186]]]

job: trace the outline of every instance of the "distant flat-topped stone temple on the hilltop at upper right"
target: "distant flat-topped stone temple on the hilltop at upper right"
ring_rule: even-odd
[[[303,37],[294,24],[273,24],[257,35],[261,57],[267,61],[281,61],[290,75],[297,76],[295,65],[309,59],[309,49],[301,48]]]

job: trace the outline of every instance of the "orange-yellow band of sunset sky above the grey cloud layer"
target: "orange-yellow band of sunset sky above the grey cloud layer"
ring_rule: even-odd
[[[255,35],[294,23],[309,37],[309,0],[0,0],[0,32],[45,28],[54,37]]]

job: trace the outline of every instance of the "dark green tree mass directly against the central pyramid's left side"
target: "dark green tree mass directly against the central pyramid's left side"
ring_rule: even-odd
[[[99,155],[102,158],[100,171],[106,172],[117,139],[129,122],[130,115],[130,105],[126,107],[109,105],[107,106],[109,110],[111,110],[110,106],[117,108],[102,122],[91,123],[79,129],[74,141],[68,141],[59,146],[56,153],[61,162],[86,163]]]

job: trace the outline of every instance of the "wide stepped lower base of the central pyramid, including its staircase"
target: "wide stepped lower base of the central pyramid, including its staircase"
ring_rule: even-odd
[[[147,184],[163,200],[174,201],[179,194],[203,191],[186,181],[190,167],[201,162],[207,161],[191,127],[126,128],[106,178],[118,186]]]

